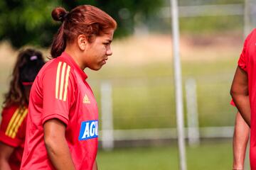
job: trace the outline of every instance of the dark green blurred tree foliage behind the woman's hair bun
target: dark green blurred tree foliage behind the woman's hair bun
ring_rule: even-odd
[[[67,11],[82,4],[97,6],[112,16],[118,24],[116,37],[134,31],[134,16],[146,18],[162,6],[164,0],[1,0],[0,40],[9,40],[14,47],[39,45],[49,47],[59,23],[51,18],[56,6]]]

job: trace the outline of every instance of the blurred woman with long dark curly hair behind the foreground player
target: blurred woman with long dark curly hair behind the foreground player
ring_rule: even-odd
[[[41,52],[27,49],[18,54],[2,111],[0,169],[20,169],[26,132],[28,96],[36,74],[43,64]]]

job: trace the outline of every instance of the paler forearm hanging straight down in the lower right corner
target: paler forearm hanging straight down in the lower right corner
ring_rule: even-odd
[[[249,135],[250,128],[238,112],[235,116],[235,130],[233,135],[233,169],[244,169]]]

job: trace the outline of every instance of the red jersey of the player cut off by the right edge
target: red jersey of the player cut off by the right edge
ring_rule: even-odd
[[[250,99],[250,166],[256,169],[256,30],[247,36],[238,66],[247,72]]]

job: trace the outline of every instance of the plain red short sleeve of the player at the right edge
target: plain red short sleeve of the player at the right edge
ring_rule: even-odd
[[[247,38],[245,39],[243,48],[242,48],[242,52],[240,54],[240,58],[238,60],[238,66],[243,69],[245,72],[247,72],[247,49],[248,49],[248,41],[250,40],[250,38],[252,37],[252,34],[255,32],[255,30],[252,30],[252,33],[250,33]]]

